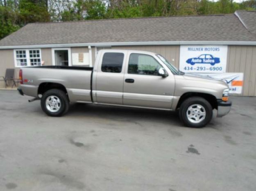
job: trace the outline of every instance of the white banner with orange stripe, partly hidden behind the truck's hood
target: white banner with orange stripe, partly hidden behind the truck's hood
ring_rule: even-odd
[[[197,73],[197,75],[223,80],[229,85],[229,93],[242,93],[242,85],[244,79],[243,73]]]

